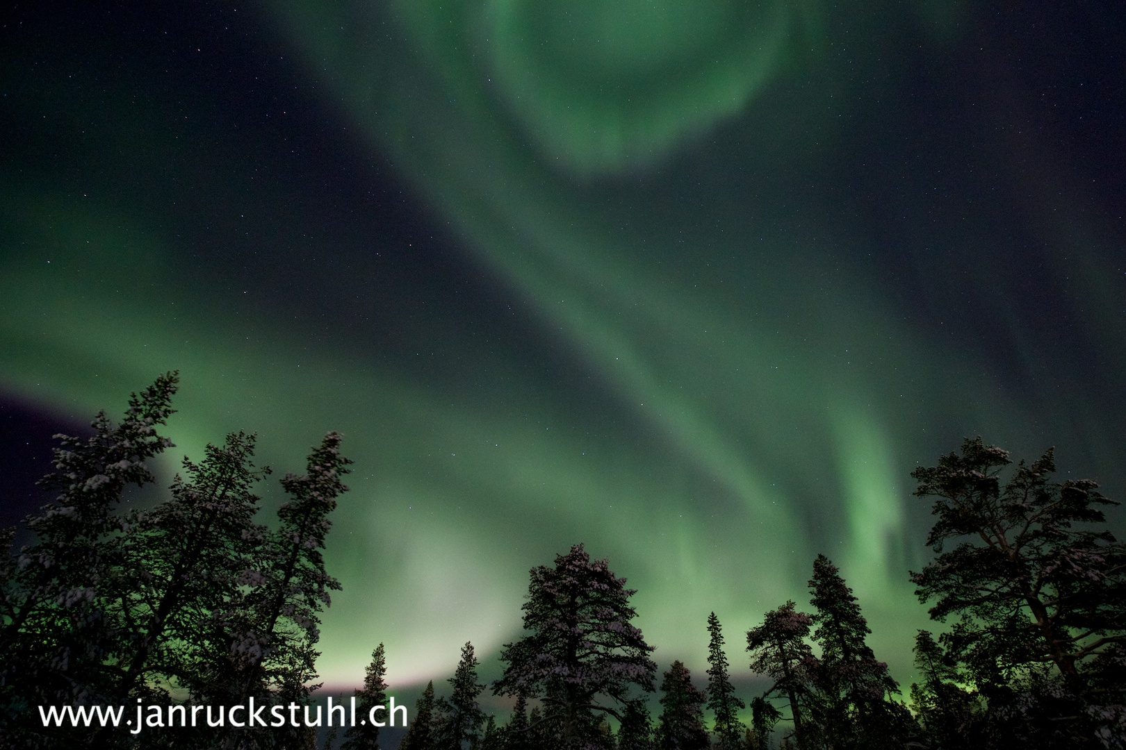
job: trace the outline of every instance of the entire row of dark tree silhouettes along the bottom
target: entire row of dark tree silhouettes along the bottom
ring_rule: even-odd
[[[318,613],[339,589],[320,550],[350,463],[329,433],[272,528],[254,522],[254,439],[232,433],[198,464],[185,459],[169,497],[122,508],[144,461],[170,446],[169,373],[134,395],[119,425],[61,437],[42,485],[54,500],[28,519],[34,541],[6,555],[0,600],[2,739],[12,748],[314,748],[307,726],[230,726],[129,735],[44,728],[39,705],[190,702],[307,704],[319,687]],[[1006,451],[966,440],[959,453],[912,472],[933,498],[933,558],[911,573],[944,623],[915,640],[918,681],[906,699],[866,639],[852,590],[824,555],[810,607],[786,602],[745,634],[745,662],[767,678],[736,695],[723,631],[706,622],[707,686],[674,661],[660,675],[633,625],[636,591],[582,544],[530,571],[524,635],[504,645],[501,677],[479,683],[472,643],[448,680],[429,684],[401,750],[860,750],[1126,748],[1126,548],[1107,530],[1114,503],[1090,480],[1053,480],[1049,450],[1011,467]],[[7,534],[7,546],[14,530]],[[704,633],[701,623],[701,638]],[[373,652],[359,716],[384,705],[386,654]],[[499,723],[485,689],[515,701]],[[660,689],[656,714],[650,696]],[[379,747],[372,724],[321,739]]]

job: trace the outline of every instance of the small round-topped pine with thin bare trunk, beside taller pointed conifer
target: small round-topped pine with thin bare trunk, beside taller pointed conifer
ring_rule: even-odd
[[[797,747],[808,747],[804,716],[805,705],[812,692],[813,674],[817,660],[806,643],[812,618],[797,612],[793,602],[787,602],[768,612],[758,627],[747,632],[747,650],[751,652],[751,671],[767,675],[774,684],[763,695],[785,696],[789,702],[790,720],[794,722],[794,739]]]

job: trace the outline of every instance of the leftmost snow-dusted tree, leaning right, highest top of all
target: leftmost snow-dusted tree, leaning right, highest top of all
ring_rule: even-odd
[[[114,695],[118,680],[104,668],[131,634],[107,616],[106,590],[117,560],[116,510],[128,486],[154,481],[145,461],[172,445],[157,433],[173,413],[178,377],[161,376],[129,397],[120,424],[99,412],[93,436],[55,435],[54,471],[39,481],[55,498],[28,518],[35,542],[8,557],[0,588],[0,702],[12,719],[12,744],[38,742],[35,705],[91,704]],[[32,730],[28,730],[32,731]],[[44,730],[43,738],[66,735]],[[44,739],[43,741],[50,741]]]

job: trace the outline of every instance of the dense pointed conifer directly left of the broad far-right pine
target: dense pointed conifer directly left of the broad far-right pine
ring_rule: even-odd
[[[819,735],[833,750],[903,747],[911,719],[891,699],[899,685],[866,643],[872,631],[852,589],[823,554],[813,562],[810,590],[813,640],[821,647],[813,671],[816,699],[810,704]]]

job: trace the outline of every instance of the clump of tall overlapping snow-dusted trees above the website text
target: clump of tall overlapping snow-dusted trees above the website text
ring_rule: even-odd
[[[145,461],[171,443],[157,433],[172,414],[177,376],[129,398],[119,425],[99,413],[95,435],[59,435],[57,490],[28,519],[35,541],[0,562],[0,746],[153,747],[110,728],[43,726],[35,706],[304,699],[315,678],[318,613],[328,590],[320,549],[349,463],[329,433],[309,473],[287,476],[293,497],[270,532],[253,516],[254,437],[231,433],[202,461],[184,460],[162,501],[123,513],[129,485],[154,477]],[[10,544],[14,534],[2,540]],[[234,698],[232,701],[231,698]],[[64,722],[68,723],[68,722]],[[178,748],[312,747],[304,728],[258,735],[186,728]],[[155,744],[153,744],[155,743]],[[162,746],[161,746],[162,747]]]

